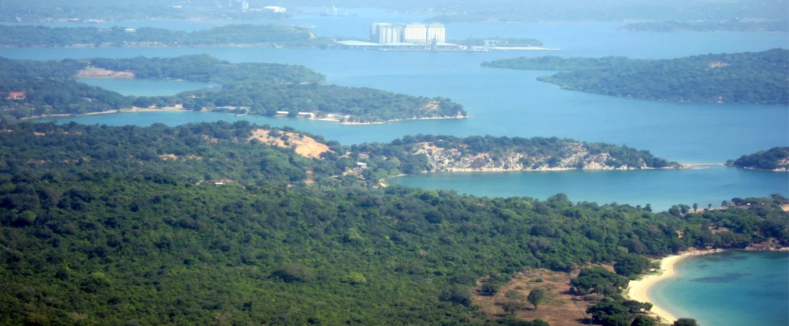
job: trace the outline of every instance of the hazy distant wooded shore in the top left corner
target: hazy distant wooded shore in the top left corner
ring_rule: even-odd
[[[189,6],[194,3],[195,6]],[[252,9],[264,3],[252,1]],[[180,7],[174,6],[181,5]],[[265,19],[290,17],[290,13],[264,11],[241,12],[226,6],[227,2],[172,2],[170,0],[25,0],[4,2],[2,21],[50,21],[77,19],[127,21],[151,18],[166,19]]]

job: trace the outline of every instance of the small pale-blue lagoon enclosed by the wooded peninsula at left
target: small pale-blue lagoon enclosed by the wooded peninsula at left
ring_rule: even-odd
[[[180,92],[209,88],[215,85],[195,81],[162,81],[146,79],[75,78],[89,84],[125,96],[170,96]]]

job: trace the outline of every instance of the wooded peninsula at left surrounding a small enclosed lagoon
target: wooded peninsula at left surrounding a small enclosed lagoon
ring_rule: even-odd
[[[0,71],[0,115],[9,118],[139,109],[229,111],[348,124],[468,117],[462,105],[451,99],[323,84],[323,75],[304,66],[230,63],[205,54],[49,62],[0,58],[0,63],[4,67]],[[175,96],[122,96],[74,81],[75,76],[200,81],[220,86]]]

